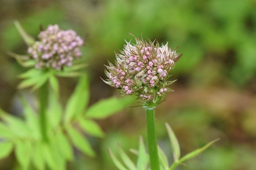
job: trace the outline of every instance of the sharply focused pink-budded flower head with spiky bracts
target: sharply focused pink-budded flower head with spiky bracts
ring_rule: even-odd
[[[176,49],[171,50],[158,42],[136,39],[136,44],[126,42],[123,51],[116,53],[115,65],[109,63],[105,74],[105,83],[121,89],[122,95],[137,95],[144,102],[160,102],[166,92],[172,91],[167,86],[174,81],[167,81],[170,71],[181,55]]]

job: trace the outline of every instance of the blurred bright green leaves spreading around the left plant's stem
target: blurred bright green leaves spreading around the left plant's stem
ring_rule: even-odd
[[[33,69],[22,74],[21,77],[30,77],[41,73],[41,71]],[[93,109],[86,109],[89,99],[89,79],[87,76],[82,76],[76,89],[67,101],[65,109],[63,109],[58,101],[58,96],[55,95],[56,87],[53,86],[56,83],[50,83],[50,85],[52,88],[49,91],[49,105],[46,112],[49,141],[43,141],[39,129],[38,115],[29,103],[21,97],[20,100],[25,116],[24,120],[0,110],[0,118],[3,119],[3,122],[0,122],[0,138],[3,139],[3,142],[0,142],[0,159],[8,156],[14,149],[17,161],[24,170],[27,170],[31,164],[38,170],[45,170],[47,167],[52,170],[65,170],[66,162],[72,161],[74,157],[72,146],[85,155],[95,156],[95,152],[90,146],[90,142],[84,136],[84,133],[103,137],[104,132],[91,119],[99,117],[93,117],[92,111],[97,111],[95,112],[96,115],[101,113],[99,117],[101,119],[121,111],[134,102],[134,99],[129,97],[114,100],[109,98],[105,99],[104,102],[106,104],[111,103],[112,105],[105,105],[102,108],[102,102],[99,102],[99,104],[92,106]],[[121,106],[120,103],[122,103]],[[113,105],[119,105],[119,107],[111,109]],[[106,112],[106,109],[109,111]],[[86,110],[90,111],[91,118],[85,114],[87,113]]]

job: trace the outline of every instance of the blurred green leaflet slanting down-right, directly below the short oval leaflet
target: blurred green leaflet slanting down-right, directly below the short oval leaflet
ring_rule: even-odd
[[[77,147],[79,150],[81,150],[84,154],[88,156],[95,156],[95,153],[91,148],[89,142],[78,130],[76,130],[71,125],[67,125],[66,130],[75,147]]]

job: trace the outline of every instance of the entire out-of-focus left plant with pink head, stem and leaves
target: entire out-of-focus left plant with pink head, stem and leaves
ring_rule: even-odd
[[[95,156],[84,133],[103,137],[104,132],[95,119],[104,119],[134,102],[132,96],[103,99],[87,108],[89,77],[81,71],[84,64],[73,65],[81,57],[83,40],[72,30],[63,31],[57,25],[41,31],[35,41],[15,22],[23,40],[29,46],[26,56],[9,52],[23,66],[34,67],[21,74],[19,88],[41,88],[39,107],[32,106],[20,96],[23,118],[0,109],[0,159],[12,150],[22,169],[65,170],[74,157],[73,146],[87,156]],[[63,106],[59,102],[57,76],[79,77],[73,94]],[[49,87],[50,88],[49,88]]]

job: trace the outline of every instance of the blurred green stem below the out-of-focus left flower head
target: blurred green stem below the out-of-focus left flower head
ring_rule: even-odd
[[[41,127],[41,135],[44,142],[48,141],[47,138],[47,117],[46,117],[46,108],[47,108],[47,82],[41,88],[40,94],[40,127]]]

